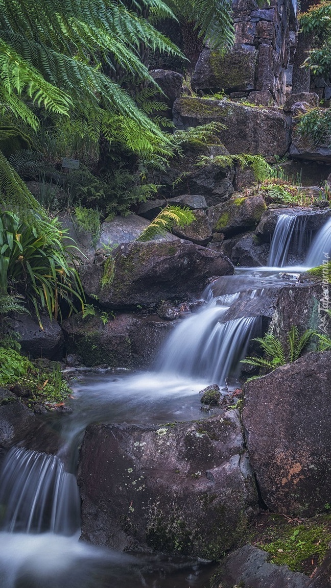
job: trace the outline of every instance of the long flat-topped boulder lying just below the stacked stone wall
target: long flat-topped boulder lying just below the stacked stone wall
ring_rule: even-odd
[[[184,96],[174,103],[173,116],[179,129],[223,123],[217,136],[230,153],[283,156],[290,145],[289,119],[276,108]]]

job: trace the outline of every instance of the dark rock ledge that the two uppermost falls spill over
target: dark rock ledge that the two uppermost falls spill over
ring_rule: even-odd
[[[265,241],[269,241],[274,233],[277,218],[279,215],[304,215],[307,219],[307,230],[319,230],[331,216],[331,209],[316,208],[276,208],[268,209],[262,215],[259,225],[256,228],[256,235]]]

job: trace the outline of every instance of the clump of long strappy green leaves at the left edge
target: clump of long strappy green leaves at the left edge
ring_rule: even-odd
[[[64,235],[57,219],[35,218],[31,225],[14,212],[0,212],[0,289],[25,296],[40,323],[42,309],[61,318],[62,301],[69,313],[73,298],[84,306],[78,272],[69,265],[74,248],[64,245]]]

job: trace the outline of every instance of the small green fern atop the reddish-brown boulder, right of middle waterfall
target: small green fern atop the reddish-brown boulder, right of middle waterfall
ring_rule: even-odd
[[[272,333],[267,333],[262,338],[253,339],[253,341],[260,343],[264,356],[251,356],[242,359],[241,363],[248,363],[249,365],[269,370],[274,370],[279,366],[286,365],[286,363],[292,363],[299,358],[314,334],[315,332],[312,329],[307,329],[300,337],[297,327],[293,325],[287,333],[286,344],[283,344]]]

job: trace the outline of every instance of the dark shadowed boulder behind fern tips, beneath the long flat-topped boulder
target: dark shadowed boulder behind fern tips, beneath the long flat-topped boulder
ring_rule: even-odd
[[[169,199],[172,203],[178,196],[187,194],[204,196],[207,206],[226,201],[234,192],[234,170],[213,164],[212,158],[228,154],[224,145],[184,145],[183,155],[171,159],[166,172],[161,172],[158,194],[167,200],[172,196]],[[210,165],[196,165],[201,155],[211,158]]]

